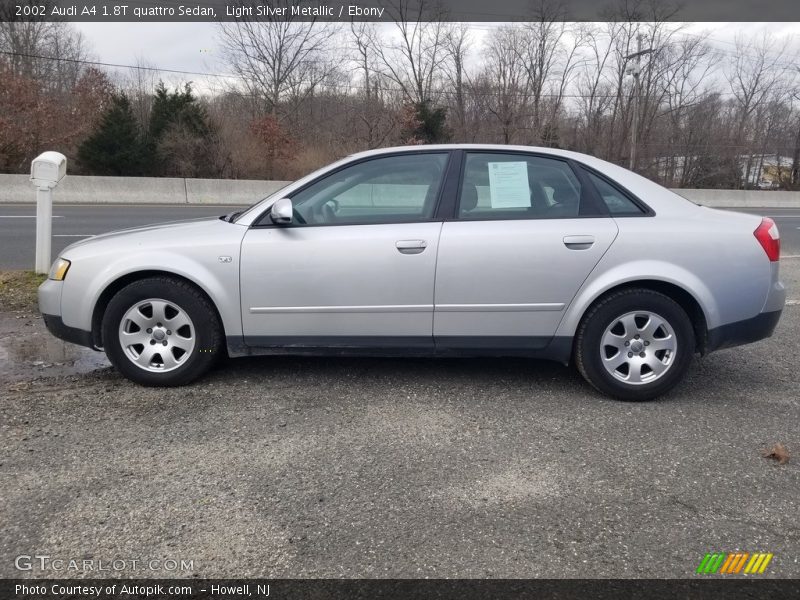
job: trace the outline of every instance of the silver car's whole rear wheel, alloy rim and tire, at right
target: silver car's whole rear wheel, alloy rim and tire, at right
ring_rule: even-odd
[[[597,302],[578,329],[575,362],[599,391],[620,400],[652,400],[686,374],[695,348],[681,306],[647,289],[622,290]]]

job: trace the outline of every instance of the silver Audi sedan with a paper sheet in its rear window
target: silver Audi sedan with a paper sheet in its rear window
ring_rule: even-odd
[[[188,383],[226,351],[521,355],[646,400],[695,353],[771,335],[779,252],[770,219],[590,156],[413,146],[241,213],[73,244],[39,304],[52,333],[145,385]]]

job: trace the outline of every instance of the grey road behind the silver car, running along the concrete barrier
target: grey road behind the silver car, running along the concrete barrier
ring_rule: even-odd
[[[210,205],[55,205],[53,208],[53,257],[80,239],[128,227],[227,214],[242,206]],[[800,209],[738,209],[771,216],[781,231],[783,254],[800,254]],[[31,269],[36,249],[36,207],[33,204],[0,204],[0,269]]]

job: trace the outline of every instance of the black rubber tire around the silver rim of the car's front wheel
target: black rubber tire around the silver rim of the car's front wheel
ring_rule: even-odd
[[[156,363],[153,367],[137,365],[134,358],[129,355],[131,350],[126,352],[120,341],[120,327],[125,315],[129,314],[128,311],[133,307],[148,299],[165,300],[170,305],[169,310],[174,310],[172,308],[174,303],[174,306],[188,315],[191,321],[189,329],[183,331],[184,335],[193,336],[191,350],[179,354],[180,364],[165,372],[157,370],[157,362],[161,360],[158,356],[153,359]],[[169,333],[172,335],[171,330]],[[175,334],[177,333],[176,331]],[[140,279],[117,292],[108,303],[103,315],[102,336],[103,347],[111,364],[128,379],[146,386],[172,387],[190,383],[207,372],[224,353],[222,325],[207,297],[193,285],[170,277]],[[155,340],[150,343],[154,342]],[[143,349],[146,347],[143,344],[139,346]],[[137,352],[136,347],[129,348],[134,348],[133,352]],[[180,352],[180,349],[175,351],[176,354]],[[162,362],[166,364],[166,361]]]

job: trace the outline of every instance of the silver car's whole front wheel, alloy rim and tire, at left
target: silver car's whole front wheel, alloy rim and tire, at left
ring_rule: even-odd
[[[102,324],[111,363],[128,379],[177,386],[205,373],[222,351],[214,308],[194,286],[168,277],[141,279],[111,299]]]

